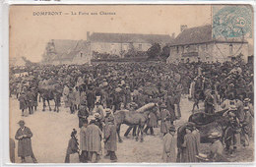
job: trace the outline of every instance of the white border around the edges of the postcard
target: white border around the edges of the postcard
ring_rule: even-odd
[[[63,0],[58,1],[32,1],[32,0],[0,0],[0,165],[1,166],[256,166],[256,154],[254,150],[254,162],[252,163],[239,163],[239,162],[229,162],[229,163],[195,163],[195,164],[186,164],[186,163],[96,163],[96,164],[65,164],[65,163],[38,163],[38,164],[12,164],[9,162],[9,7],[10,5],[106,5],[106,4],[142,4],[142,5],[169,5],[169,4],[248,4],[253,7],[255,11],[255,1],[240,1],[240,0],[227,0],[227,1],[154,1],[154,0],[131,0],[131,1],[120,1],[120,0]],[[254,12],[254,23],[255,19]],[[254,32],[255,32],[254,27]],[[254,33],[253,33],[254,34]],[[255,39],[255,35],[254,35]],[[254,40],[255,41],[255,40]],[[256,46],[254,44],[254,50]],[[255,65],[255,62],[254,62]],[[255,80],[255,76],[254,76]],[[256,99],[254,98],[254,103],[256,104]],[[255,143],[255,140],[254,140]]]

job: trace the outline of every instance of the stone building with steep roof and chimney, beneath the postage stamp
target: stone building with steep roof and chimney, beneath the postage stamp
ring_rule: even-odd
[[[242,38],[213,38],[211,25],[196,28],[183,25],[181,32],[170,44],[167,62],[224,62],[239,54],[243,55],[246,62],[248,50],[248,42]]]

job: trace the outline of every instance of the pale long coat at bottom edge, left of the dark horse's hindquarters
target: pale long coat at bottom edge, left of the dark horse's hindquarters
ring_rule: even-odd
[[[167,156],[167,153],[170,156]],[[162,159],[163,162],[176,162],[176,144],[174,137],[167,133],[163,137],[163,149],[162,149]]]

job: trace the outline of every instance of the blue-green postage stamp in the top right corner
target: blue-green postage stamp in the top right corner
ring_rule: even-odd
[[[252,9],[249,6],[213,6],[213,37],[252,37]]]

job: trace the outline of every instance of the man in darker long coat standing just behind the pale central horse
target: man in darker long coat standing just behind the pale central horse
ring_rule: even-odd
[[[107,119],[104,132],[104,148],[107,151],[105,157],[110,156],[112,162],[116,162],[117,157],[115,151],[117,150],[117,138],[116,138],[116,126],[114,125],[114,118],[109,117]]]

